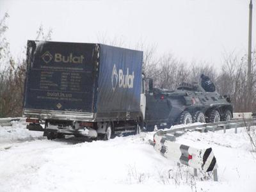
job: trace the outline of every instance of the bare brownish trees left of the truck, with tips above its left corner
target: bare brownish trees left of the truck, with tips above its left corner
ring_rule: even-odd
[[[22,101],[24,97],[24,81],[26,75],[26,51],[23,56],[16,60],[10,54],[9,44],[4,37],[4,32],[8,27],[4,20],[8,18],[8,14],[4,15],[4,19],[0,22],[0,61],[4,66],[0,72],[0,117],[20,116],[22,115]],[[36,33],[36,39],[51,40],[52,30],[44,32],[43,26],[40,26]]]

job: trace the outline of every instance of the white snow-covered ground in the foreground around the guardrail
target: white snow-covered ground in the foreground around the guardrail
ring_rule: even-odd
[[[110,141],[49,141],[19,123],[0,126],[0,191],[256,191],[256,154],[239,128],[188,132],[178,143],[212,147],[218,182],[178,166],[148,144],[153,132]]]

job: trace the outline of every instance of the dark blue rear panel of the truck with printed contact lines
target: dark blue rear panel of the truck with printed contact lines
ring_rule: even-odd
[[[25,109],[93,111],[95,44],[28,41]]]

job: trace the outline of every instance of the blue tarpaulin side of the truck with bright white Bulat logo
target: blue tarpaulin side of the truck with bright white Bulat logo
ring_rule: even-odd
[[[97,118],[135,118],[140,112],[143,52],[100,44]]]

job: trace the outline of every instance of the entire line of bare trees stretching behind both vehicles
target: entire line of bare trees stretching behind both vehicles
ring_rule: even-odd
[[[6,13],[0,20],[0,117],[21,116],[24,94],[24,79],[26,76],[26,47],[23,56],[13,59],[10,44],[4,34],[8,30]],[[51,40],[52,30],[46,33],[42,26],[36,31],[36,40]],[[124,40],[115,38],[108,40],[100,36],[99,42],[125,47]],[[198,82],[200,75],[209,76],[215,83],[218,92],[230,95],[236,112],[255,111],[256,109],[256,54],[252,60],[252,95],[246,92],[247,61],[246,55],[238,58],[230,54],[223,58],[221,70],[216,70],[209,63],[186,63],[178,60],[172,54],[158,56],[156,45],[139,43],[134,47],[144,52],[143,72],[154,79],[157,87],[175,90],[182,81]],[[250,97],[250,99],[248,99]]]

